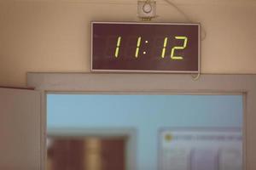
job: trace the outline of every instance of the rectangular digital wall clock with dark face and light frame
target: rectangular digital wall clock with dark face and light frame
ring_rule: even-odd
[[[200,25],[92,22],[91,71],[197,73]]]

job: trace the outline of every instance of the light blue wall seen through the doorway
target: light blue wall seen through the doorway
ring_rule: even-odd
[[[177,153],[174,157],[183,153],[184,160],[194,160],[187,167],[168,168],[171,170],[200,170],[212,162],[223,162],[221,165],[213,163],[214,165],[209,167],[212,170],[236,167],[241,170],[241,164],[235,167],[232,167],[232,164],[229,167],[229,163],[226,163],[236,151],[225,147],[223,151],[216,147],[218,143],[232,145],[232,142],[224,144],[220,140],[231,141],[229,139],[233,138],[239,140],[237,147],[241,151],[242,102],[241,95],[48,94],[47,130],[50,133],[55,128],[134,128],[137,131],[138,170],[168,168],[165,159],[168,161],[169,158],[161,152],[165,150],[171,150],[171,155]],[[234,135],[229,136],[229,132]],[[172,150],[168,145],[169,140],[182,141],[183,144],[188,142],[182,139],[183,133],[188,133],[188,139],[189,135],[196,138],[190,143],[190,149],[183,150],[182,145],[173,142],[174,148],[181,148]],[[201,139],[198,137],[200,135]],[[211,141],[203,142],[203,139],[211,138],[212,141],[218,140],[215,141],[215,148]],[[193,144],[196,142],[205,145],[207,151],[201,148],[195,150]],[[235,143],[233,145],[237,145]],[[170,160],[175,160],[173,156]],[[208,162],[207,164],[201,163],[202,157],[206,159],[204,162]],[[241,161],[241,158],[239,159]]]

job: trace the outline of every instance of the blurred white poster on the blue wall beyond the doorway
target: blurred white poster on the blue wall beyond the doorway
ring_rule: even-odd
[[[160,132],[160,170],[242,170],[239,128]]]

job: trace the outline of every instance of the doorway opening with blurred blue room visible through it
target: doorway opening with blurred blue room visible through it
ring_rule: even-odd
[[[47,166],[58,170],[66,159],[80,167],[65,170],[242,170],[243,99],[242,94],[47,94]],[[88,144],[97,145],[92,161]]]

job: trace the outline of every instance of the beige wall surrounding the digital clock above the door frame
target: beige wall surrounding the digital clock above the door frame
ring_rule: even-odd
[[[255,0],[172,2],[207,32],[202,73],[256,73]],[[157,14],[188,22],[163,0]],[[0,0],[0,85],[26,85],[27,71],[89,72],[91,20],[138,21],[137,1]]]

